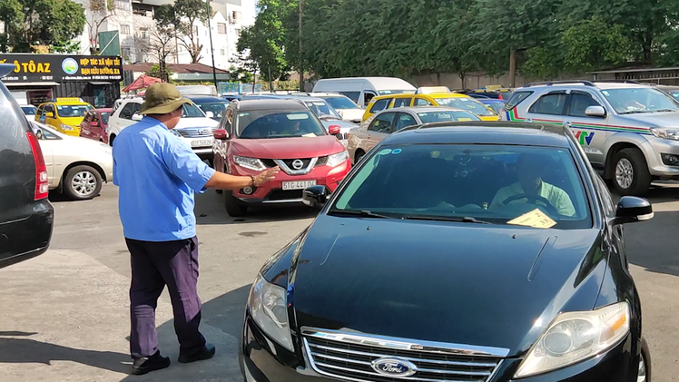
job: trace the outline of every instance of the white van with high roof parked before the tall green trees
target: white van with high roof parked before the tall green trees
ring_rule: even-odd
[[[319,80],[313,93],[340,93],[365,107],[377,95],[415,93],[415,86],[395,77],[344,77]]]

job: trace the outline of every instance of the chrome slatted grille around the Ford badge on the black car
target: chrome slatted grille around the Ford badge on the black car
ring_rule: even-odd
[[[468,347],[434,349],[408,342],[389,342],[309,328],[303,329],[302,333],[311,366],[317,372],[352,381],[487,382],[508,353],[506,349],[499,348],[484,348],[497,350],[492,354],[470,351]],[[415,365],[416,371],[408,377],[379,374],[371,366],[379,358],[407,360]]]

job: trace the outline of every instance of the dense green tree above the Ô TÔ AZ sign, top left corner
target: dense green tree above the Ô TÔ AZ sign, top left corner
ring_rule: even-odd
[[[3,0],[0,20],[12,52],[64,44],[82,34],[85,25],[83,6],[71,0]]]

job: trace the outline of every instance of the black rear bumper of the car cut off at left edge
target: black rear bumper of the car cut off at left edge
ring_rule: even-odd
[[[0,224],[0,268],[43,254],[52,240],[54,207],[35,201],[27,219]]]

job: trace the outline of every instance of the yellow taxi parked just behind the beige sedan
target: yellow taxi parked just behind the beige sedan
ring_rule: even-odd
[[[475,114],[481,121],[499,119],[492,109],[468,95],[452,93],[446,86],[432,86],[418,88],[414,94],[388,94],[373,97],[363,113],[363,122],[374,113],[403,106],[449,106]]]

